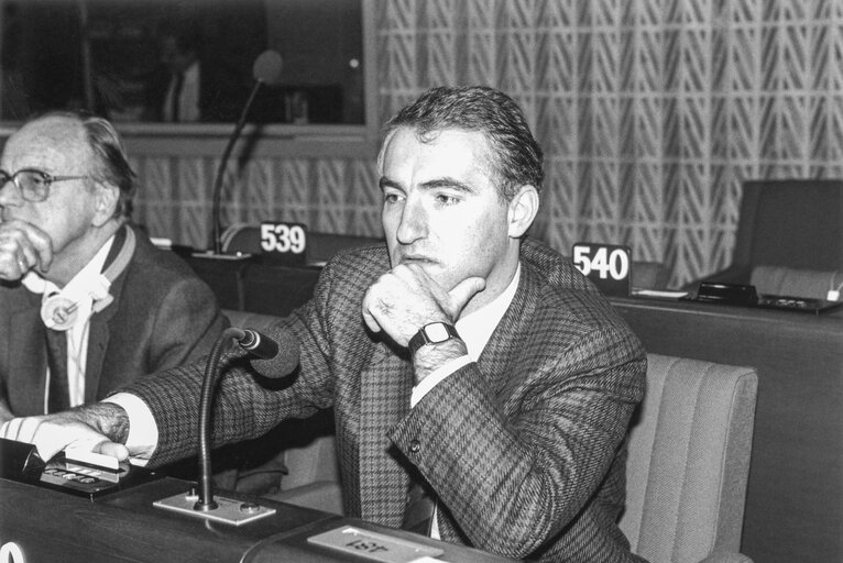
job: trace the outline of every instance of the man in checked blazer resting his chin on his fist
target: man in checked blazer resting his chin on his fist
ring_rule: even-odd
[[[377,169],[385,247],[338,255],[313,299],[270,331],[300,342],[285,388],[248,366],[228,372],[215,440],[332,407],[347,515],[399,527],[418,483],[446,541],[635,560],[615,520],[645,354],[569,261],[527,236],[543,173],[521,110],[491,88],[429,90],[387,124]],[[165,464],[195,452],[200,380],[185,366],[0,433],[43,455],[87,440]]]

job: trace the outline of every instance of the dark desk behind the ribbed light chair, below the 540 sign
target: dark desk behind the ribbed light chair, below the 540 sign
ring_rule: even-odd
[[[742,552],[843,561],[843,311],[613,298],[648,352],[758,371]]]

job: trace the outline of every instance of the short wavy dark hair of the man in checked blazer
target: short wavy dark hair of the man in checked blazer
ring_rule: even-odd
[[[491,147],[499,195],[512,201],[525,185],[541,191],[541,147],[518,104],[500,90],[486,86],[431,88],[386,123],[385,139],[399,128],[415,130],[421,142],[433,141],[446,129],[483,133]]]

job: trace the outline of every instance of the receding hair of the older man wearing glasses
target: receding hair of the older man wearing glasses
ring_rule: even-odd
[[[94,154],[95,169],[91,176],[98,181],[117,186],[119,198],[114,217],[131,217],[138,176],[129,164],[125,147],[114,126],[107,119],[87,111],[52,111],[35,120],[47,118],[67,118],[79,122]]]

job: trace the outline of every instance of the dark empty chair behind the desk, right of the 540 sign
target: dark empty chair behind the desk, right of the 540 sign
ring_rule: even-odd
[[[843,269],[843,180],[746,181],[738,221],[732,264],[705,280],[748,284],[756,266]]]

